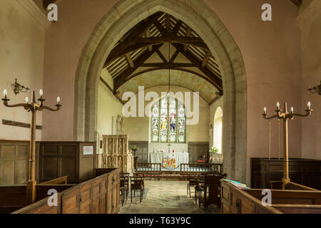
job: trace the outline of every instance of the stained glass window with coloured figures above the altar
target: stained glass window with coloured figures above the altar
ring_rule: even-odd
[[[186,118],[185,108],[178,100],[163,98],[152,107],[151,141],[185,142]]]

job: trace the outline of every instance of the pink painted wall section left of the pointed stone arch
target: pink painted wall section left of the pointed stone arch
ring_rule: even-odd
[[[42,140],[73,140],[73,99],[76,68],[93,28],[117,1],[58,2],[58,21],[46,29],[44,90],[46,99],[61,97],[58,113],[44,117]],[[49,97],[49,94],[51,97]]]

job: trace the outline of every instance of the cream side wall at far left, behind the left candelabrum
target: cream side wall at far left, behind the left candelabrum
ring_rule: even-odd
[[[1,0],[0,7],[0,90],[1,98],[4,88],[8,90],[11,104],[24,103],[26,96],[31,100],[31,92],[14,95],[11,83],[14,83],[15,78],[22,85],[36,90],[38,95],[44,73],[45,29],[34,19],[35,15],[31,16],[18,2]],[[37,113],[37,125],[41,125],[42,115],[46,115],[46,112]],[[0,104],[0,139],[29,140],[29,128],[2,125],[2,119],[30,123],[30,113],[24,108],[5,108]],[[36,140],[41,140],[41,130],[36,130]]]

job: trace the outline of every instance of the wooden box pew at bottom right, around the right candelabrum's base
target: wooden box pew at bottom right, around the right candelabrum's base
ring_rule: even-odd
[[[220,182],[223,213],[321,213],[321,191],[271,190],[272,205],[263,206],[263,190],[239,189],[229,182]]]

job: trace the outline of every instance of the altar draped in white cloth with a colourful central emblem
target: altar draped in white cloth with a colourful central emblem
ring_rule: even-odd
[[[161,163],[166,168],[177,168],[180,164],[188,164],[188,152],[151,152],[149,154],[151,163]]]

